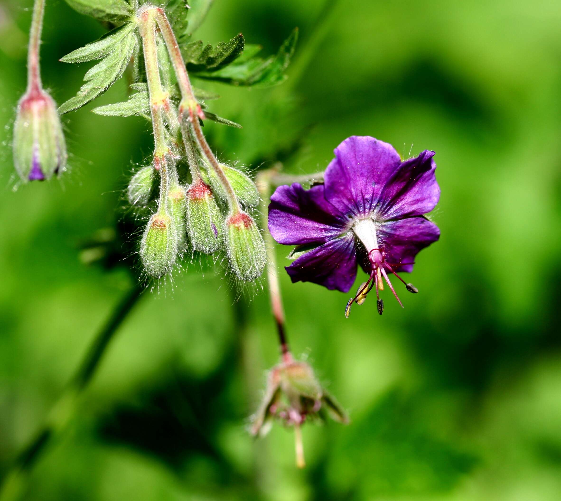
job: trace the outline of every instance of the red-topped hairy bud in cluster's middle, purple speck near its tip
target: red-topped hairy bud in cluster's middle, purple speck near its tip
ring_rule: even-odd
[[[193,249],[212,254],[222,245],[224,217],[210,187],[201,179],[187,188],[187,229]]]

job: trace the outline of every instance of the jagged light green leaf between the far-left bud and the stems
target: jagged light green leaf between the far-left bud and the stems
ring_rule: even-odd
[[[100,54],[101,57],[103,57],[102,61],[86,72],[84,76],[86,83],[81,86],[76,96],[61,105],[58,109],[59,113],[68,113],[69,111],[84,106],[84,104],[89,103],[100,94],[103,94],[123,75],[135,47],[134,28],[135,25],[132,23],[122,26],[117,33],[112,35],[111,38],[114,37],[112,43],[108,44],[105,42],[103,44],[102,53],[99,52],[100,46],[98,45],[93,49],[84,50],[84,52],[79,53],[78,56],[76,56],[76,52],[79,52],[81,49],[75,50],[68,54],[66,58],[63,58],[72,60],[77,57],[80,58],[81,61],[89,61],[90,59],[99,59]],[[99,40],[99,42],[100,41],[101,40]],[[96,43],[97,42],[94,42],[94,44]],[[86,48],[88,48],[88,45],[82,49]],[[72,54],[74,54],[74,56],[72,56]]]

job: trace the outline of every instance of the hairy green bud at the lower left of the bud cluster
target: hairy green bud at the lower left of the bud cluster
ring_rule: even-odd
[[[144,270],[159,278],[171,272],[177,256],[177,235],[173,219],[167,214],[153,214],[140,243]]]

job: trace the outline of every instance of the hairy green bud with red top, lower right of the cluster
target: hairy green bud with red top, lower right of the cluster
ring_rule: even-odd
[[[230,265],[238,278],[249,282],[261,275],[266,264],[265,242],[255,221],[245,212],[226,220]]]

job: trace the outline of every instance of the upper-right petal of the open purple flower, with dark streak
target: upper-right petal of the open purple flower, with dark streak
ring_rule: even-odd
[[[434,151],[422,151],[403,162],[387,181],[376,204],[375,218],[388,220],[426,214],[440,198]]]

